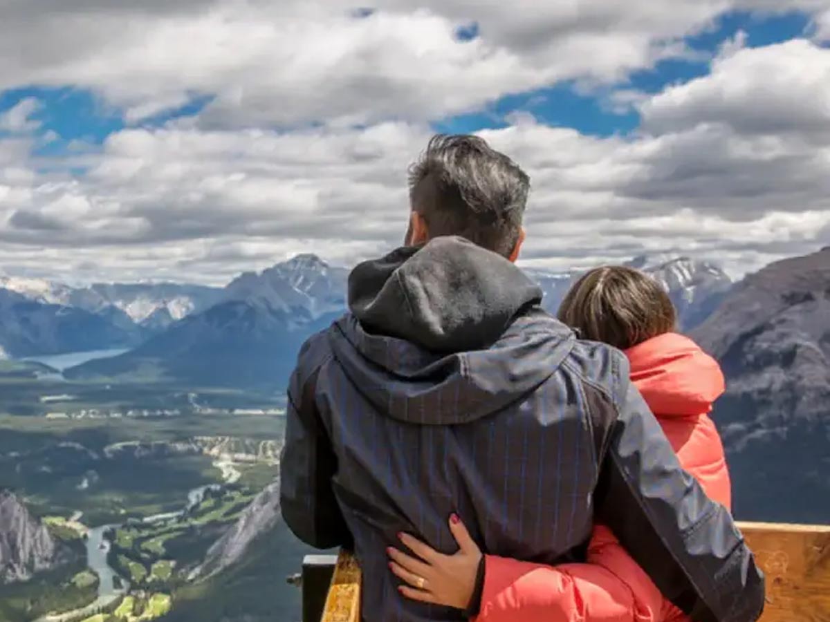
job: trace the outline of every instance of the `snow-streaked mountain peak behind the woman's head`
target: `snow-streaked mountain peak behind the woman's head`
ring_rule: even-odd
[[[684,332],[709,317],[732,286],[730,276],[710,261],[672,255],[641,255],[625,265],[652,275],[662,284],[675,304],[680,328]],[[525,271],[544,292],[542,306],[554,314],[570,286],[582,275],[577,272]]]

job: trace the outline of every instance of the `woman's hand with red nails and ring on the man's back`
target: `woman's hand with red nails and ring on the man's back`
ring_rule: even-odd
[[[392,558],[389,568],[408,584],[398,587],[408,599],[463,610],[471,604],[476,590],[481,550],[456,514],[450,517],[450,531],[459,547],[454,555],[442,555],[412,536],[398,534],[401,542],[417,557],[390,547],[387,549]]]

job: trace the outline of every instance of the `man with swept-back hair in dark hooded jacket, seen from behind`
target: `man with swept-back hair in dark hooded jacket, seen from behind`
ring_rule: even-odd
[[[403,600],[388,571],[399,532],[454,552],[453,513],[483,551],[545,563],[580,559],[596,517],[694,619],[756,620],[763,578],[623,354],[579,341],[513,265],[529,187],[481,138],[429,143],[405,245],[353,271],[349,313],[300,352],[286,522],[312,546],[354,546],[364,620],[471,613]]]

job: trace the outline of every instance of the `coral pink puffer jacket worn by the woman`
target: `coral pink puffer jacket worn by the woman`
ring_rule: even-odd
[[[627,350],[631,377],[660,421],[683,468],[730,508],[723,445],[708,413],[725,391],[723,373],[691,339],[661,335]],[[601,525],[588,563],[544,566],[486,556],[477,622],[664,622],[686,620]]]

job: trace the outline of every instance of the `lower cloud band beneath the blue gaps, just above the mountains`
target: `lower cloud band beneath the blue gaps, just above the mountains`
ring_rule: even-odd
[[[530,173],[528,265],[669,251],[740,274],[813,250],[830,226],[828,144],[778,137],[771,148],[768,136],[706,124],[593,138],[515,120],[481,134]],[[81,161],[0,181],[0,265],[222,283],[300,251],[351,264],[401,241],[406,169],[429,135],[402,122],[126,129]],[[81,162],[85,175],[67,172]]]

